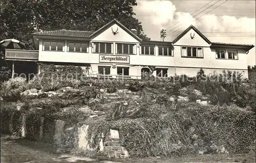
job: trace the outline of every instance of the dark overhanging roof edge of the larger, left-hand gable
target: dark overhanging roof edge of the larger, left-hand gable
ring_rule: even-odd
[[[119,21],[117,21],[116,19],[112,20],[111,22],[109,22],[108,24],[105,24],[104,26],[102,26],[102,28],[100,28],[98,31],[94,32],[91,35],[91,38],[95,38],[96,36],[100,35],[102,32],[104,32],[106,29],[110,28],[112,25],[117,24],[118,26],[120,26],[120,28],[122,28],[125,32],[127,32],[128,34],[130,34],[132,37],[134,37],[136,40],[138,41],[142,41],[142,39],[140,39],[137,35],[135,35],[132,31],[130,31],[129,29],[127,29],[123,24],[121,24]]]

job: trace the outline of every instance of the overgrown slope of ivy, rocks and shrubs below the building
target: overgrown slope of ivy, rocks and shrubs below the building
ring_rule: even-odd
[[[88,140],[96,149],[101,133],[116,129],[131,156],[243,153],[255,140],[255,83],[242,83],[237,73],[205,76],[200,70],[197,81],[182,82],[179,76],[168,81],[71,79],[68,73],[84,71],[53,65],[41,69],[28,83],[17,77],[2,84],[1,118],[16,106],[15,115],[31,114],[38,117],[34,122],[45,117],[65,120],[65,128],[89,124]],[[45,73],[49,69],[62,78]],[[202,77],[222,78],[203,82]]]

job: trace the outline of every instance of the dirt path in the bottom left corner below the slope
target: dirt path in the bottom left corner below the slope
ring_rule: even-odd
[[[57,154],[49,145],[23,139],[5,139],[1,137],[1,163],[112,163],[87,157],[73,157]]]

